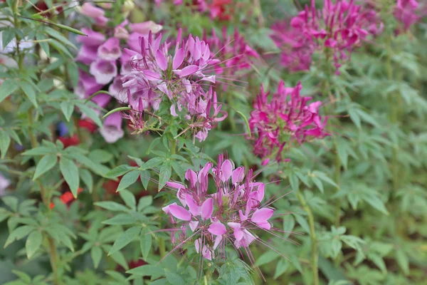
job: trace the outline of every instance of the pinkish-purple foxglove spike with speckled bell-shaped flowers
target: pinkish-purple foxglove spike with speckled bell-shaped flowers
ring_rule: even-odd
[[[123,53],[124,44],[139,50],[138,38],[147,35],[150,31],[157,33],[162,26],[153,21],[146,21],[138,24],[130,24],[127,20],[115,28],[107,28],[109,19],[105,17],[104,9],[85,3],[80,9],[80,13],[89,16],[95,21],[95,26],[100,32],[91,28],[82,28],[87,36],[78,36],[78,41],[82,43],[76,61],[89,66],[89,73],[80,71],[78,86],[75,93],[80,98],[88,98],[93,93],[108,87],[108,93],[117,98],[117,93],[122,89],[122,76],[127,75],[132,70],[129,53]],[[106,38],[105,34],[111,34]],[[92,101],[100,108],[105,108],[110,103],[111,96],[107,93],[96,95]],[[99,109],[95,109],[99,113]],[[113,114],[100,129],[100,134],[106,142],[116,142],[124,135],[122,130],[122,117],[120,114]]]

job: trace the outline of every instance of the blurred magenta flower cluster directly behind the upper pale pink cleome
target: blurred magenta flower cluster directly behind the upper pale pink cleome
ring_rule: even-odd
[[[259,58],[258,53],[246,43],[237,29],[233,34],[228,34],[227,28],[224,27],[221,36],[216,35],[214,30],[211,36],[207,36],[205,31],[204,41],[211,47],[212,56],[221,58],[222,62],[215,66],[217,74],[230,76],[236,71],[249,69],[251,60]]]

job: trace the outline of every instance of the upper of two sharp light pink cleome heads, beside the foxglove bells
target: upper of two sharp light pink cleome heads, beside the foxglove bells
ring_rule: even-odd
[[[162,35],[153,38],[149,33],[139,38],[140,52],[125,48],[132,68],[122,77],[116,98],[134,110],[129,118],[135,130],[144,127],[141,114],[145,110],[157,111],[162,100],[169,101],[170,114],[181,115],[202,141],[208,130],[227,115],[218,105],[216,93],[211,88],[204,90],[205,85],[215,83],[215,76],[205,73],[212,71],[218,60],[211,57],[209,45],[198,37],[190,35],[181,41],[181,31],[173,55],[169,54],[170,43],[161,41]]]

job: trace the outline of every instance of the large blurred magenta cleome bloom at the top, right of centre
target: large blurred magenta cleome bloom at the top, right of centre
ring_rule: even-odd
[[[292,18],[290,26],[273,26],[273,39],[283,49],[282,63],[292,71],[310,67],[314,51],[332,51],[334,66],[338,69],[349,53],[366,41],[369,34],[380,33],[383,24],[373,9],[362,9],[354,1],[325,0],[322,10],[305,6]]]

